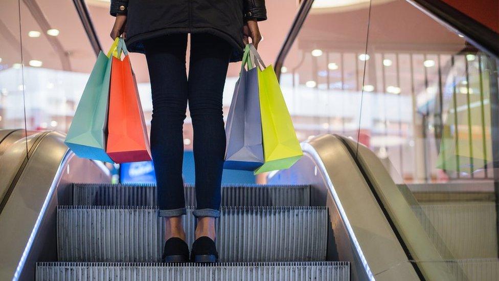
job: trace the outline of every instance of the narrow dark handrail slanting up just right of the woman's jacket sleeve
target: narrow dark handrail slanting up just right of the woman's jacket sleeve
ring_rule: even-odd
[[[277,79],[281,78],[281,67],[284,63],[284,59],[286,59],[291,46],[293,46],[294,40],[302,29],[302,25],[307,18],[308,12],[310,11],[310,8],[312,8],[313,1],[314,0],[302,0],[300,9],[298,9],[297,15],[294,17],[291,29],[289,30],[286,39],[284,39],[284,43],[279,51],[276,63],[274,63]]]

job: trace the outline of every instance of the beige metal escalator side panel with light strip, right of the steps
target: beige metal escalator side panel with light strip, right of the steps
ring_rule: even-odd
[[[277,172],[269,183],[311,183],[312,205],[322,204],[317,197],[327,200],[328,258],[349,261],[353,280],[419,280],[341,140],[324,135],[302,143],[302,148],[305,156],[290,169]],[[379,278],[382,272],[392,278]]]

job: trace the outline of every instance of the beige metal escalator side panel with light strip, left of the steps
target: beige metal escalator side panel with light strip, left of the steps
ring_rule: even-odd
[[[0,280],[32,280],[36,261],[57,259],[56,205],[71,202],[70,182],[110,181],[93,161],[75,157],[63,140],[50,132],[38,141],[0,213]]]

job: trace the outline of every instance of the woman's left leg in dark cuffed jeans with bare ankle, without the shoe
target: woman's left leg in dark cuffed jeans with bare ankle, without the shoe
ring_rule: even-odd
[[[185,240],[186,213],[182,161],[187,109],[187,34],[144,42],[152,90],[151,153],[157,181],[160,216],[166,217],[166,239]]]

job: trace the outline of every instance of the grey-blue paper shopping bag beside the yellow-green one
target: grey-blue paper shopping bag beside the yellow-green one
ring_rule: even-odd
[[[264,161],[258,73],[249,53],[250,48],[246,46],[225,126],[225,169],[255,170]]]

